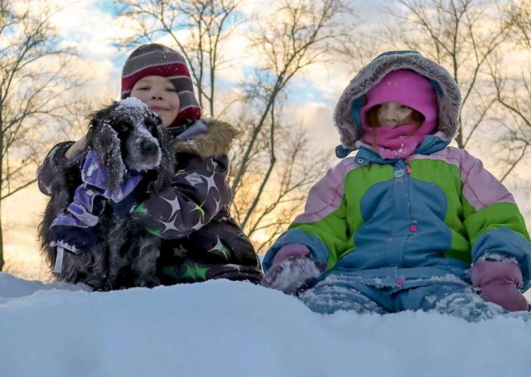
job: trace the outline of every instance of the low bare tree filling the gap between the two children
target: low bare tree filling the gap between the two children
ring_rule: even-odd
[[[252,104],[245,106],[249,107]],[[245,114],[249,117],[248,110]],[[256,113],[250,117],[256,120]],[[310,147],[306,129],[285,119],[285,114],[273,105],[249,156],[238,195],[231,202],[231,212],[259,252],[286,230],[302,209],[308,189],[323,177],[331,162],[323,157],[326,153]],[[239,123],[244,122],[240,119]],[[237,170],[253,131],[247,128],[236,142],[229,171]]]

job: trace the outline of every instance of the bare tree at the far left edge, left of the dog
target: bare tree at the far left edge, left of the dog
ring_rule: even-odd
[[[71,51],[59,47],[52,11],[32,10],[36,4],[29,1],[16,4],[0,0],[0,200],[35,182],[49,141],[43,131],[64,114],[71,101],[65,95],[80,84],[66,69]]]

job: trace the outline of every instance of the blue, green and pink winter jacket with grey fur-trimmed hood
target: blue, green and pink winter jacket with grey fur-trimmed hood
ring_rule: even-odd
[[[364,94],[407,68],[437,91],[438,129],[405,159],[384,159],[360,140]],[[363,68],[335,108],[345,157],[311,190],[305,212],[272,245],[267,271],[286,244],[303,244],[326,274],[400,289],[433,281],[470,283],[470,263],[486,253],[515,258],[531,286],[531,243],[513,196],[481,161],[448,147],[458,129],[460,92],[449,73],[416,52],[383,54]],[[326,276],[326,275],[325,275]],[[323,276],[324,277],[324,276]]]

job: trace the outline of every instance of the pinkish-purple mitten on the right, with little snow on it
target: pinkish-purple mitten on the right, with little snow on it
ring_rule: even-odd
[[[481,297],[508,311],[528,310],[528,302],[518,288],[523,276],[516,263],[510,260],[474,263],[471,271],[472,286],[479,288]]]

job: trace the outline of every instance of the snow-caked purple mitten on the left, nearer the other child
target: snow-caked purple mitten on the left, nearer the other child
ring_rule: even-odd
[[[306,246],[292,244],[283,246],[273,259],[273,265],[263,276],[261,285],[282,290],[293,295],[312,279],[326,271],[326,263],[307,256],[310,251]]]

